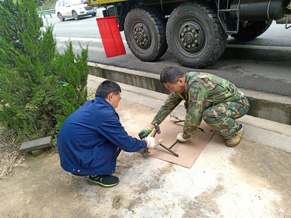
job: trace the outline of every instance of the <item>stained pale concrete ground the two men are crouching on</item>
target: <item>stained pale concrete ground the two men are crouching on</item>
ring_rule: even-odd
[[[94,91],[102,78],[89,76]],[[117,108],[129,135],[166,97],[121,84]],[[184,116],[179,106],[175,113]],[[138,153],[118,157],[116,187],[90,186],[64,171],[57,152],[28,158],[0,181],[0,217],[291,218],[291,126],[240,119],[240,145],[215,134],[191,169]]]

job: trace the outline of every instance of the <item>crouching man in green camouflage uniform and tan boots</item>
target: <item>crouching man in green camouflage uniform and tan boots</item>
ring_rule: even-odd
[[[184,74],[177,67],[166,67],[161,73],[161,82],[171,92],[151,125],[139,133],[141,138],[155,127],[185,100],[186,117],[184,129],[177,140],[187,141],[203,119],[226,138],[229,147],[239,144],[243,128],[235,120],[246,114],[249,102],[241,90],[224,78],[208,73]]]

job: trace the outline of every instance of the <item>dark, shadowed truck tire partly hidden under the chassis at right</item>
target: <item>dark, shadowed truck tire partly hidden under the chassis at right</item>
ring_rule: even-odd
[[[239,32],[231,37],[239,40],[250,40],[263,34],[272,24],[272,21],[246,21],[240,22]]]

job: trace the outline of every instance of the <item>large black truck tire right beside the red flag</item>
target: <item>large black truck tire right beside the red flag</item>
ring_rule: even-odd
[[[164,18],[148,8],[128,13],[124,33],[131,52],[143,62],[161,58],[168,49]]]

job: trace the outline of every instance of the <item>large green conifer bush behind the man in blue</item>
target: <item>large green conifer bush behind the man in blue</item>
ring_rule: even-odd
[[[86,101],[89,72],[88,47],[76,57],[69,41],[59,54],[36,11],[34,0],[0,4],[0,125],[30,139],[56,134]]]

